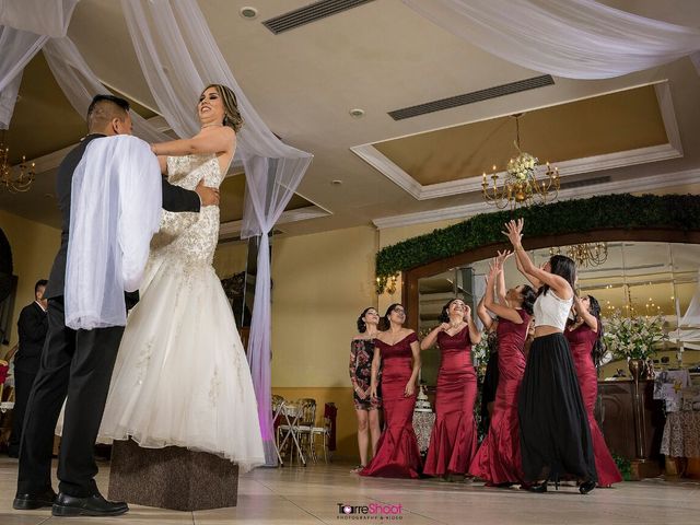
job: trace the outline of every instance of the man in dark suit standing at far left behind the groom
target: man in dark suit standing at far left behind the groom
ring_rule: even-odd
[[[14,357],[14,409],[12,412],[12,434],[8,447],[10,457],[18,457],[20,454],[26,401],[30,398],[34,378],[39,371],[42,349],[48,331],[48,316],[46,315],[48,305],[47,300],[44,299],[47,282],[45,279],[36,282],[34,302],[22,308],[18,320],[20,345]]]

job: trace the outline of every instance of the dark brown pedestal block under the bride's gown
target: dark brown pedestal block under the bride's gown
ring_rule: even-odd
[[[138,505],[201,511],[236,506],[238,466],[179,446],[141,448],[115,441],[108,498]]]

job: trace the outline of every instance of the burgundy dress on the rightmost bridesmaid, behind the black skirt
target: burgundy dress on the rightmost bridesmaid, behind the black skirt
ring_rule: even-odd
[[[564,336],[569,341],[573,364],[579,377],[581,397],[586,408],[588,417],[588,428],[591,429],[591,441],[593,442],[593,456],[595,458],[595,469],[598,472],[598,485],[608,487],[622,481],[622,476],[617,469],[617,465],[608,451],[608,446],[603,438],[603,432],[595,420],[595,399],[598,395],[598,377],[593,363],[593,346],[598,337],[585,323],[574,330],[564,330]]]

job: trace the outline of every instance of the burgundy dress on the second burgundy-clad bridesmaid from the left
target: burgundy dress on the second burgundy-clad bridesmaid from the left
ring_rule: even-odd
[[[477,452],[477,424],[474,402],[477,376],[471,364],[469,327],[451,336],[438,334],[442,354],[435,394],[435,425],[423,474],[444,476],[466,474]]]

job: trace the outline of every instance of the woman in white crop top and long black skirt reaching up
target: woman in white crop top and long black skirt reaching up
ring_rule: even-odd
[[[579,491],[591,492],[597,475],[588,419],[569,342],[563,335],[574,295],[576,267],[563,255],[537,268],[521,244],[523,219],[510,221],[503,232],[513,244],[517,268],[539,289],[535,302],[535,340],[529,349],[517,399],[525,486],[546,492],[562,476],[580,480]]]

